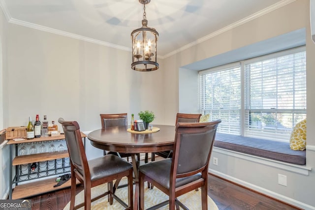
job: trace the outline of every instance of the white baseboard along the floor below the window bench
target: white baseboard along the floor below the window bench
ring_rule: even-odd
[[[300,201],[294,200],[292,198],[286,197],[286,196],[281,195],[279,193],[276,193],[276,192],[273,192],[271,190],[265,189],[263,187],[254,185],[254,184],[249,183],[247,181],[240,180],[240,179],[237,179],[235,177],[231,177],[231,176],[223,174],[223,173],[221,173],[219,171],[216,171],[216,170],[213,170],[213,169],[209,169],[209,173],[213,174],[213,175],[216,175],[218,177],[221,177],[223,179],[230,180],[230,181],[232,181],[232,182],[234,182],[236,184],[242,185],[242,186],[244,186],[246,188],[249,188],[251,190],[257,191],[258,193],[261,193],[261,194],[264,194],[266,196],[272,197],[272,198],[274,198],[276,200],[279,200],[281,202],[287,203],[287,204],[289,204],[291,206],[298,207],[298,208],[301,208],[303,210],[315,210],[314,206],[310,206],[308,204],[305,204],[305,203],[302,203]]]

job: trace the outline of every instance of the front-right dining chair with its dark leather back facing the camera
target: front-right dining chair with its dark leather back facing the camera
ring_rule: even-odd
[[[175,210],[175,203],[187,209],[178,197],[201,187],[202,210],[208,209],[208,167],[221,120],[211,122],[183,123],[176,125],[172,158],[166,158],[139,166],[139,204],[144,210],[144,182],[150,181],[169,196],[169,200],[151,209],[158,209],[169,203],[169,210]]]

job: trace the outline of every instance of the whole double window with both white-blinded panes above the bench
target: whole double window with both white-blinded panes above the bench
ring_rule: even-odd
[[[200,109],[222,120],[218,132],[289,141],[306,118],[304,47],[200,71],[199,79]]]

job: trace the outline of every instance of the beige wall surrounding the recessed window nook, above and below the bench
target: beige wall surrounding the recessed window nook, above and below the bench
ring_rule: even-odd
[[[165,100],[176,98],[177,104],[166,104],[165,118],[167,115],[181,110],[195,110],[194,103],[188,102],[189,94],[181,94],[183,68],[192,67],[194,63],[206,60],[218,55],[229,53],[237,49],[262,42],[282,34],[306,28],[307,51],[307,126],[315,126],[315,44],[311,41],[309,1],[296,0],[282,8],[249,21],[241,26],[222,32],[203,43],[193,46],[183,52],[177,53],[163,60],[165,66],[170,66],[167,81],[178,81],[178,86],[165,83]],[[203,63],[204,64],[204,63]],[[209,66],[212,63],[209,63]],[[194,78],[192,78],[194,80]],[[185,89],[184,89],[185,90]],[[184,97],[184,98],[182,98]],[[308,129],[307,133],[307,165],[296,167],[252,156],[246,156],[237,152],[214,149],[212,157],[219,158],[219,165],[211,164],[210,171],[226,179],[238,182],[254,190],[270,195],[284,202],[303,209],[315,209],[315,131]],[[278,184],[278,174],[287,177],[287,186]]]

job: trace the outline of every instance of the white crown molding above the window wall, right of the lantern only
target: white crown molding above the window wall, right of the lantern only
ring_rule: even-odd
[[[189,43],[189,44],[187,44],[187,45],[185,45],[185,46],[183,46],[183,47],[181,47],[181,48],[179,48],[177,50],[174,50],[173,52],[170,52],[170,53],[162,56],[162,59],[165,59],[165,58],[168,58],[170,56],[173,56],[173,55],[175,55],[175,54],[177,54],[179,52],[182,52],[182,51],[184,51],[184,50],[186,50],[186,49],[188,49],[188,48],[190,48],[192,46],[195,46],[195,45],[197,45],[199,43],[202,43],[202,42],[204,42],[204,41],[206,41],[206,40],[208,40],[210,38],[213,38],[213,37],[215,37],[215,36],[225,32],[225,31],[228,31],[228,30],[231,30],[231,29],[236,28],[238,26],[241,26],[241,25],[243,25],[243,24],[245,24],[247,22],[250,22],[250,21],[252,21],[252,20],[254,20],[254,19],[256,19],[256,18],[258,18],[260,16],[263,16],[263,15],[269,13],[269,12],[272,12],[272,11],[274,11],[276,9],[279,9],[279,8],[285,6],[285,5],[289,4],[289,3],[292,3],[294,1],[296,1],[296,0],[282,0],[282,1],[279,1],[278,3],[275,3],[275,4],[265,8],[263,10],[260,10],[260,11],[258,11],[256,13],[246,17],[246,18],[243,18],[243,19],[241,19],[241,20],[239,20],[239,21],[237,21],[235,23],[232,23],[231,25],[228,25],[228,26],[226,26],[226,27],[224,27],[224,28],[222,28],[220,30],[217,30],[217,31],[215,31],[213,33],[210,33],[210,34],[200,38],[200,39],[197,39],[196,41],[193,41],[193,42],[191,42],[191,43]]]

